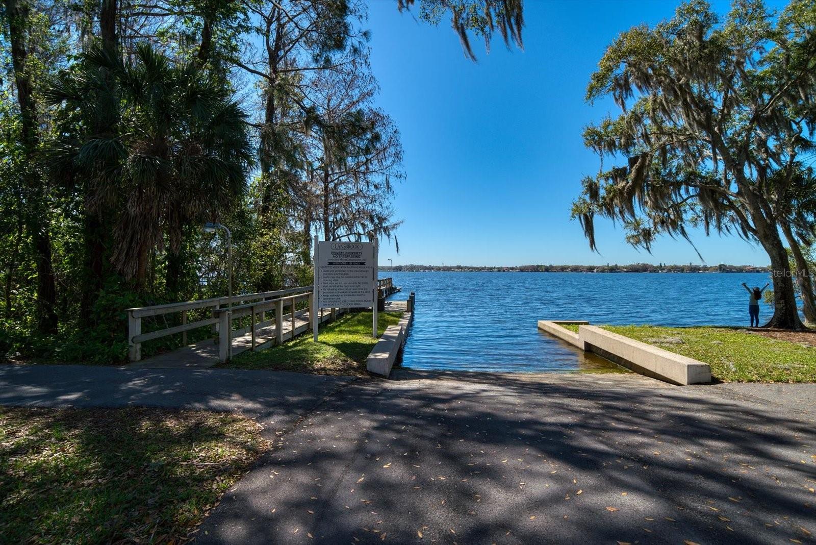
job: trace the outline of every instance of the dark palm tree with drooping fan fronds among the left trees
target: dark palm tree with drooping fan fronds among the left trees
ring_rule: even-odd
[[[246,113],[195,62],[176,64],[146,44],[127,60],[95,48],[44,95],[62,107],[47,165],[80,180],[86,214],[113,211],[110,261],[140,289],[153,250],[169,241],[177,252],[185,226],[218,221],[246,192]]]

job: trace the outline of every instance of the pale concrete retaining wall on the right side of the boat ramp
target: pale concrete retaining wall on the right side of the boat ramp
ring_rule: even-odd
[[[578,334],[559,326],[559,323],[578,323]],[[588,321],[540,320],[539,329],[653,379],[681,386],[712,381],[711,366],[707,363],[590,326]]]

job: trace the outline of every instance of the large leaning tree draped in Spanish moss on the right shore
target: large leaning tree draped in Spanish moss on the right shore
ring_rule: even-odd
[[[813,8],[792,2],[775,17],[745,0],[720,20],[693,0],[615,38],[587,100],[611,96],[620,113],[589,126],[584,143],[626,165],[583,179],[572,207],[593,250],[598,216],[647,251],[664,234],[690,241],[690,228],[756,241],[778,272],[771,322],[800,327],[780,229],[809,233],[816,212],[802,161],[816,146]]]

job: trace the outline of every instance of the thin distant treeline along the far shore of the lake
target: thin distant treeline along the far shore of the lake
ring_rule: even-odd
[[[628,265],[521,265],[520,267],[475,267],[469,265],[394,265],[380,267],[381,271],[454,271],[454,272],[769,272],[767,267],[753,265],[670,265],[635,263]]]

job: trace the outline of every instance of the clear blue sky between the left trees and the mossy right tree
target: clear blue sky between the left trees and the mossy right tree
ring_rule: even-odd
[[[527,0],[524,51],[496,40],[487,55],[474,42],[472,63],[446,20],[432,27],[416,8],[370,2],[377,103],[401,131],[406,171],[395,200],[405,221],[400,254],[383,241],[380,263],[700,263],[686,241],[637,251],[610,222],[597,224],[598,255],[570,221],[580,179],[599,165],[583,127],[615,113],[611,101],[584,102],[589,76],[618,33],[667,19],[678,3]],[[694,242],[707,264],[768,264],[764,250],[737,237],[698,233]]]

